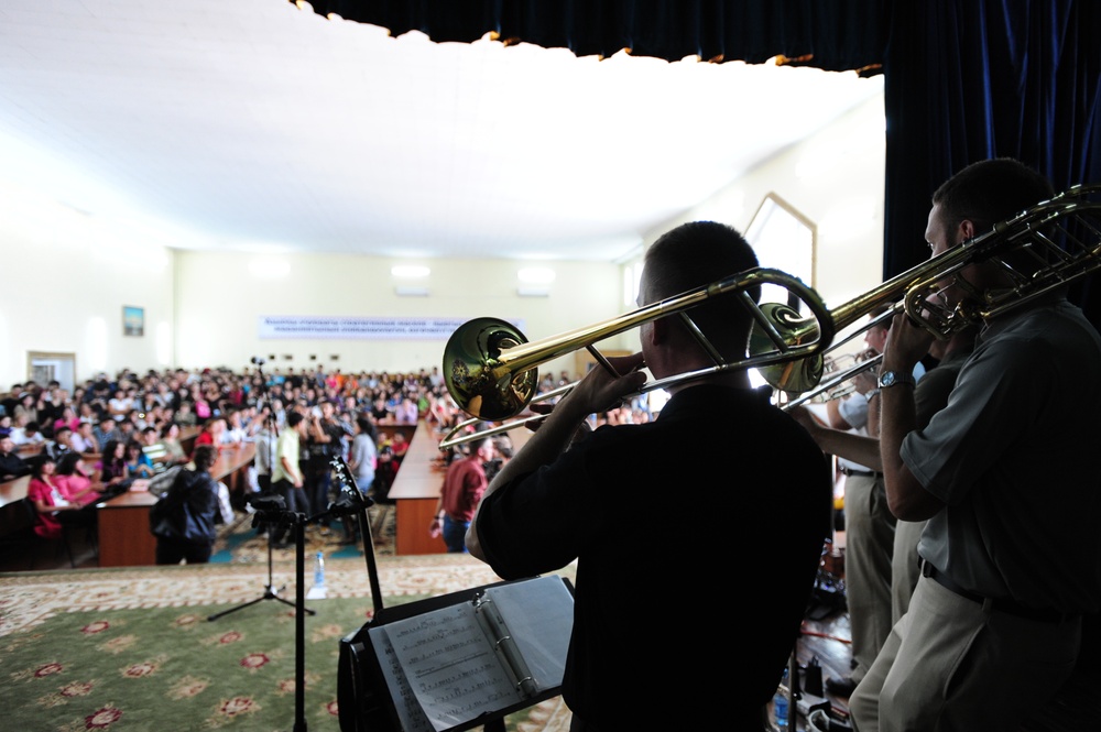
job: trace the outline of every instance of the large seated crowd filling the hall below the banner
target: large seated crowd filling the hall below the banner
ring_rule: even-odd
[[[545,374],[539,391],[569,381],[565,372],[557,378]],[[598,415],[593,426],[604,420],[647,420],[647,402],[636,402]],[[331,408],[323,412],[324,404]],[[253,490],[263,490],[270,467],[269,456],[259,455],[261,444],[266,450],[274,443],[272,425],[282,431],[292,412],[316,420],[321,427],[317,435],[328,431],[336,437],[323,445],[307,430],[302,443],[301,460],[308,468],[304,472],[314,482],[324,482],[320,490],[307,490],[312,513],[328,499],[330,485],[321,478],[328,458],[336,450],[353,458],[357,435],[370,435],[375,447],[373,473],[353,466],[371,476],[371,485],[361,489],[372,489],[375,500],[385,502],[408,448],[403,431],[393,426],[415,425],[423,418],[444,433],[467,418],[437,368],[355,374],[293,368],[270,373],[217,368],[138,374],[124,369],[113,378],[99,374],[72,393],[57,382],[26,382],[0,395],[0,482],[33,476],[28,494],[35,501],[36,532],[43,536],[56,536],[64,523],[88,521],[73,510],[126,490],[146,490],[156,474],[190,463],[201,445],[257,443]],[[194,447],[184,449],[182,434],[195,436]],[[451,455],[446,457],[449,461]],[[309,468],[312,459],[315,465]],[[244,498],[235,496],[237,507],[244,507]],[[327,533],[327,525],[323,529]],[[355,539],[353,531],[346,533],[346,540]]]

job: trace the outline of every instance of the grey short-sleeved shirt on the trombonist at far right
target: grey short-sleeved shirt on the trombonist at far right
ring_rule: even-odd
[[[918,553],[957,583],[1065,613],[1101,608],[1101,337],[1066,301],[999,317],[902,458],[946,507]]]

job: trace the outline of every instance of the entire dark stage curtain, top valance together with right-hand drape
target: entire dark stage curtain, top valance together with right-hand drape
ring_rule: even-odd
[[[578,55],[761,63],[884,74],[884,280],[928,256],[929,197],[955,171],[1012,156],[1057,190],[1101,182],[1097,0],[316,0],[314,10],[470,42]],[[1072,298],[1093,317],[1101,285]]]

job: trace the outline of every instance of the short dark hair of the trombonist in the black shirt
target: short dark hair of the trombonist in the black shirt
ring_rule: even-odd
[[[757,265],[753,248],[733,227],[690,221],[665,232],[646,250],[643,276],[656,302]],[[749,294],[759,301],[760,287],[750,288]],[[687,315],[727,358],[745,354],[751,315],[735,293],[708,298]]]

